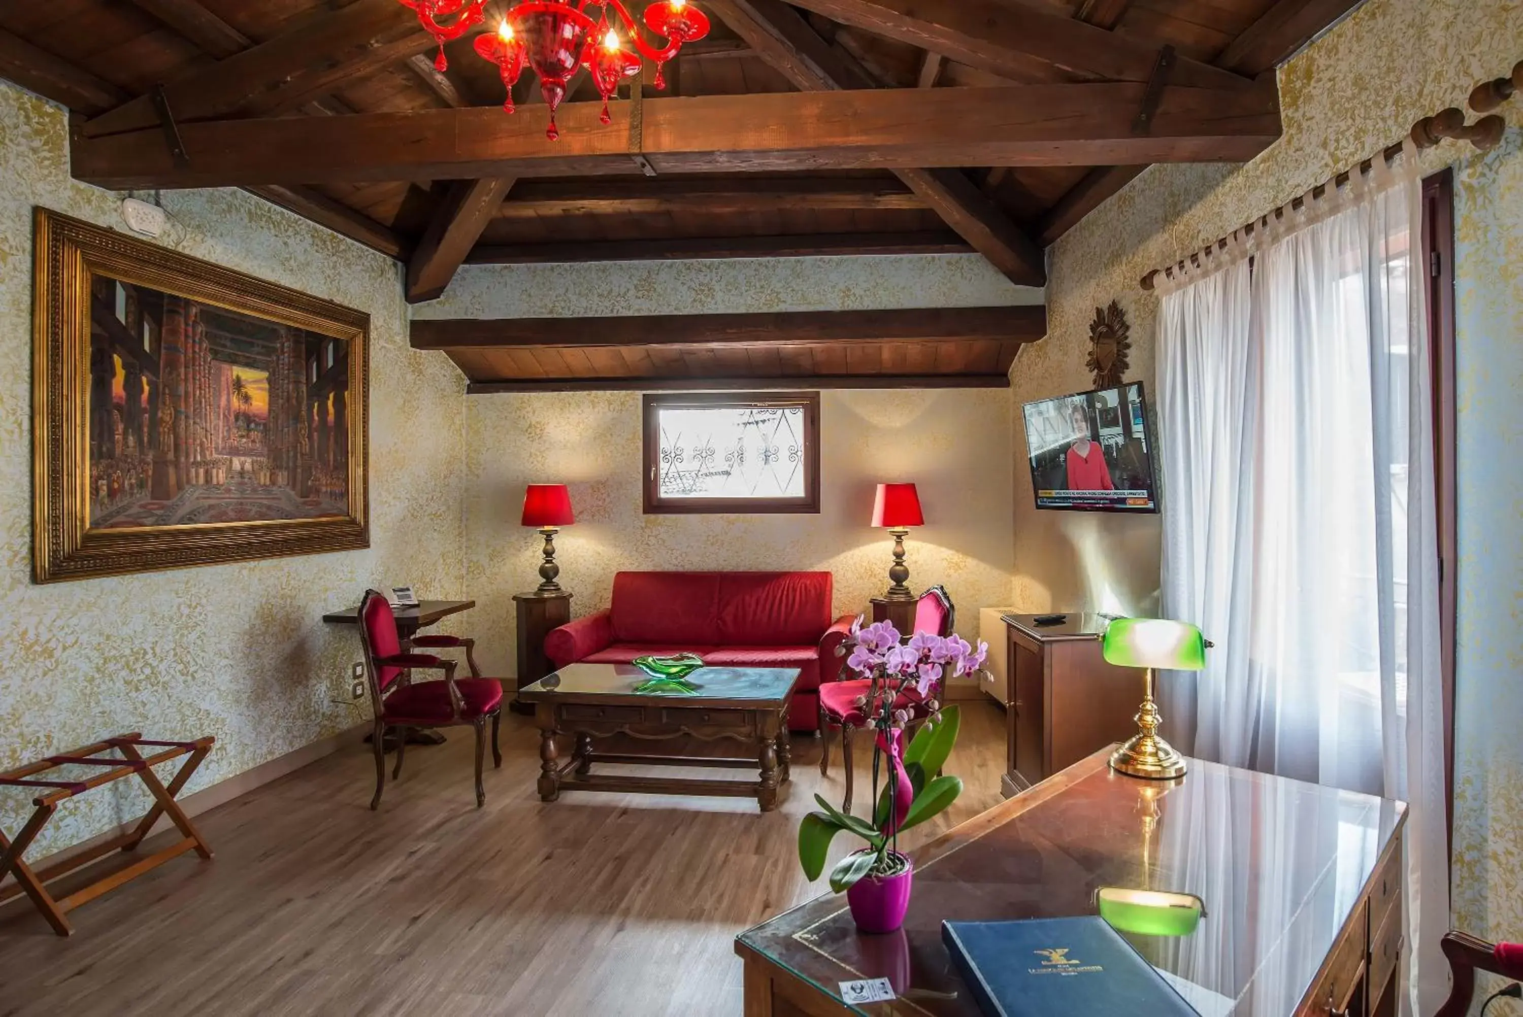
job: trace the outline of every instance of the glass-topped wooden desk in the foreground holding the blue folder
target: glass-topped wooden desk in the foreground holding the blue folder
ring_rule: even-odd
[[[737,936],[746,1017],[978,1017],[941,921],[1092,915],[1101,886],[1205,901],[1189,936],[1127,935],[1203,1014],[1395,1014],[1406,805],[1200,760],[1142,781],[1109,752],[915,851],[897,933],[857,933],[827,894]],[[847,1006],[836,987],[862,977],[899,997]]]

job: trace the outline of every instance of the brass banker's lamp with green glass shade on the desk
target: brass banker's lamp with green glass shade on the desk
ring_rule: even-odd
[[[1100,647],[1107,664],[1144,668],[1138,732],[1110,754],[1110,769],[1156,781],[1183,776],[1185,757],[1157,737],[1164,719],[1153,702],[1153,668],[1199,671],[1206,665],[1206,638],[1188,621],[1116,618],[1106,626]]]

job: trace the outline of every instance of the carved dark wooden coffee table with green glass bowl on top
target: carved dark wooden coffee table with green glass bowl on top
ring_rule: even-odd
[[[637,693],[647,674],[632,664],[571,664],[518,690],[535,703],[539,725],[539,798],[562,790],[644,792],[650,795],[726,795],[755,798],[762,811],[777,808],[777,789],[789,778],[787,703],[798,684],[795,667],[705,667],[688,681],[691,694]],[[571,758],[560,761],[557,734],[576,735]],[[691,735],[737,740],[754,755],[719,758],[659,752],[595,752],[594,738],[626,734],[638,741]],[[594,773],[597,763],[644,766],[719,766],[760,769],[754,781]]]

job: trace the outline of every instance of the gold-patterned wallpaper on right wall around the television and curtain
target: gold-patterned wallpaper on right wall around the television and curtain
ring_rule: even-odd
[[[1138,286],[1179,259],[1398,140],[1421,116],[1464,107],[1471,87],[1523,58],[1517,0],[1369,0],[1279,70],[1285,134],[1241,166],[1154,166],[1052,250],[1049,333],[1011,370],[1016,405],[1087,388],[1087,323],[1119,298],[1133,376],[1154,379],[1157,300]],[[1447,142],[1454,166],[1459,289],[1459,664],[1453,903],[1488,938],[1523,930],[1523,475],[1499,449],[1523,440],[1523,100],[1500,111],[1505,143]],[[1016,448],[1023,448],[1019,413]],[[1167,504],[1167,475],[1162,478]],[[1031,508],[1016,477],[1014,598],[1027,611],[1156,606],[1156,519]]]

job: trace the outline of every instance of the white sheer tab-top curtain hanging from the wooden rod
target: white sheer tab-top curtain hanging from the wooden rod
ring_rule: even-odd
[[[1272,227],[1250,282],[1167,294],[1159,440],[1164,612],[1217,644],[1170,711],[1194,708],[1196,755],[1409,802],[1403,1011],[1429,1014],[1448,878],[1419,239],[1415,175],[1355,174]]]

